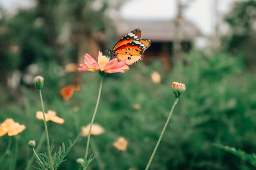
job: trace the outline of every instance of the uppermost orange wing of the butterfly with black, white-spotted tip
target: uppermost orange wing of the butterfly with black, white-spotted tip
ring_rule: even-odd
[[[114,46],[113,50],[115,51],[117,48],[119,48],[122,45],[127,45],[128,43],[131,43],[134,41],[134,39],[140,39],[141,38],[141,29],[134,29],[133,31],[126,34],[123,38],[120,39]]]

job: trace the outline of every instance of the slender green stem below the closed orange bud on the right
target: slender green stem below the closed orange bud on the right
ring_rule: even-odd
[[[157,150],[157,148],[158,148],[158,145],[159,145],[159,143],[160,143],[160,141],[161,141],[161,139],[162,139],[162,137],[163,137],[163,134],[164,134],[164,132],[165,132],[165,129],[166,129],[166,127],[167,127],[167,125],[168,125],[168,123],[169,123],[169,121],[170,121],[170,118],[172,117],[173,109],[175,108],[175,106],[176,106],[176,104],[178,103],[178,101],[179,101],[179,98],[176,98],[175,101],[173,102],[172,110],[170,111],[170,114],[169,114],[169,116],[168,116],[168,118],[167,118],[167,120],[166,120],[166,122],[165,122],[164,128],[163,128],[163,130],[162,130],[162,132],[161,132],[161,134],[160,134],[160,136],[159,136],[159,139],[158,139],[158,141],[157,141],[157,143],[156,143],[156,146],[155,146],[155,148],[154,148],[154,151],[153,151],[153,153],[152,153],[152,155],[151,155],[151,157],[150,157],[150,159],[149,159],[149,161],[148,161],[148,164],[147,164],[147,167],[146,167],[145,170],[148,169],[148,167],[150,166],[150,164],[151,164],[151,162],[152,162],[152,159],[154,158],[154,155],[155,155],[156,150]]]

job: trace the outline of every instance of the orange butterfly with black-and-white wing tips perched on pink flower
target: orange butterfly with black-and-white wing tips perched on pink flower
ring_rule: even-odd
[[[150,39],[140,39],[141,29],[134,29],[121,38],[113,50],[109,50],[111,57],[126,60],[127,65],[136,64],[143,59],[143,53],[150,46]]]

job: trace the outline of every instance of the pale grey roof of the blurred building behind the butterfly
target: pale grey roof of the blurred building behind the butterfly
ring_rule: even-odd
[[[179,31],[175,31],[174,20],[123,20],[118,21],[116,30],[118,36],[122,37],[134,29],[141,29],[141,38],[152,41],[173,41],[177,36],[180,41],[191,41],[196,36],[202,36],[199,29],[189,21],[179,20]],[[178,34],[178,35],[177,35]]]

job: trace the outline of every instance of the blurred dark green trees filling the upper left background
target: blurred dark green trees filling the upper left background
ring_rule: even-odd
[[[108,1],[102,1],[99,9],[92,7],[92,0],[36,0],[35,3],[34,8],[20,10],[13,17],[0,9],[2,83],[6,83],[6,77],[14,70],[25,71],[32,63],[55,60],[64,65],[77,62],[80,48],[86,52],[88,39],[97,39],[93,35],[106,29]],[[99,43],[105,47],[104,43]]]

